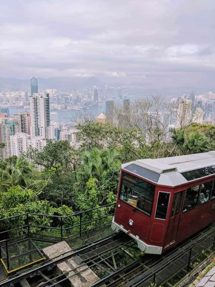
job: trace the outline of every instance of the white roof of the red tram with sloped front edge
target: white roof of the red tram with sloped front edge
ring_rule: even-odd
[[[215,150],[176,157],[138,159],[122,164],[122,168],[158,185],[173,187],[215,175]]]

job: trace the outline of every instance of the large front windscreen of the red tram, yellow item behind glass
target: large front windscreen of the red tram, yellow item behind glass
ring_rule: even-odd
[[[119,194],[122,201],[151,216],[154,192],[155,185],[123,172]]]

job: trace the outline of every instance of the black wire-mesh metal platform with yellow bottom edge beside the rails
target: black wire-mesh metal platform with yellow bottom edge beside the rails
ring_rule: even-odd
[[[15,272],[46,259],[31,239],[3,245],[1,251],[1,262],[7,273]]]

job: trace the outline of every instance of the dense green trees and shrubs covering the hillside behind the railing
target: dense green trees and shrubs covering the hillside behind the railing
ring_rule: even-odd
[[[78,212],[93,209],[83,213],[82,230],[94,228],[100,217],[97,224],[110,221],[111,207],[97,207],[115,202],[122,163],[215,149],[215,127],[211,125],[193,123],[186,129],[173,130],[171,142],[155,137],[150,145],[137,124],[128,128],[88,121],[77,128],[81,140],[78,149],[67,141],[49,140],[41,152],[31,149],[25,157],[0,160],[0,218],[40,213],[29,215],[29,223],[36,226],[30,232],[49,235],[55,232],[61,236],[62,223],[66,236],[70,236],[79,232],[79,227],[72,229],[80,223]],[[61,216],[65,217],[63,221]],[[26,224],[25,214],[0,221],[0,230]],[[59,230],[47,229],[51,226]],[[8,236],[23,232],[26,229],[15,230]]]

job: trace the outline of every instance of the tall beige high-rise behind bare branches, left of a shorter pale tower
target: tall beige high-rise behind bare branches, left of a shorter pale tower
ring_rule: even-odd
[[[178,104],[176,128],[182,128],[190,124],[191,118],[191,101],[182,100]]]

